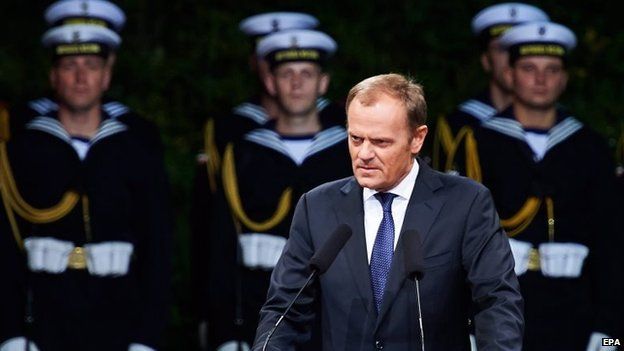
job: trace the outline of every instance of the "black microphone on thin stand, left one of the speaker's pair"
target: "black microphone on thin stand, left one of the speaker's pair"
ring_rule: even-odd
[[[314,278],[316,275],[321,275],[325,273],[329,269],[331,264],[334,263],[334,260],[336,259],[336,256],[338,256],[338,253],[340,252],[342,247],[351,237],[351,234],[353,234],[351,227],[344,223],[340,224],[338,227],[336,227],[336,229],[329,236],[329,238],[323,243],[321,248],[316,251],[312,258],[310,258],[310,263],[308,264],[308,267],[312,272],[308,276],[308,279],[303,284],[301,289],[299,289],[299,291],[297,292],[297,295],[295,295],[295,297],[290,301],[288,307],[286,307],[286,310],[284,310],[284,312],[277,319],[277,322],[275,322],[275,325],[273,325],[273,328],[271,329],[271,331],[269,331],[269,334],[267,334],[267,337],[264,340],[264,345],[262,345],[262,351],[266,351],[266,348],[269,345],[269,340],[271,340],[273,333],[275,333],[277,327],[282,323],[282,320],[288,314],[288,311],[290,311],[295,301],[297,301],[299,295],[301,295],[303,290],[308,286],[312,278]]]

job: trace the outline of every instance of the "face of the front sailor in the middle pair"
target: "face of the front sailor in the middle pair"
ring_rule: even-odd
[[[316,99],[325,94],[329,76],[311,62],[282,63],[265,80],[267,90],[288,116],[306,116],[316,109]]]

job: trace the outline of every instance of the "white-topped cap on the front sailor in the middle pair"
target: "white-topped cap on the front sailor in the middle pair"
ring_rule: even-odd
[[[324,64],[338,45],[329,35],[310,29],[293,29],[267,35],[258,42],[256,55],[271,67],[293,61]]]

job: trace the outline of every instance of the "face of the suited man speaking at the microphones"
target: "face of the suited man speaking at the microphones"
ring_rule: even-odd
[[[412,130],[405,106],[386,94],[369,106],[354,99],[347,122],[353,174],[361,186],[377,191],[405,178],[427,135],[427,126]]]

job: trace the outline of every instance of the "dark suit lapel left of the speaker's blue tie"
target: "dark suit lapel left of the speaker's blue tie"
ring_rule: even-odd
[[[351,239],[344,247],[347,256],[351,277],[357,286],[357,290],[365,301],[365,308],[370,313],[373,302],[368,259],[366,253],[366,236],[364,234],[364,205],[362,201],[362,188],[352,178],[341,189],[338,201],[335,202],[335,211],[338,223],[346,223],[353,230]],[[373,308],[373,310],[375,310]]]

